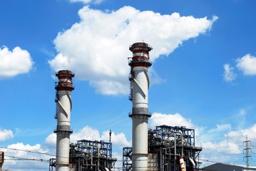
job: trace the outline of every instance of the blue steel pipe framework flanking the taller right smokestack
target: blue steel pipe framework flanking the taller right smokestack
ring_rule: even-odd
[[[148,130],[148,171],[199,170],[199,153],[202,147],[195,147],[195,130],[168,125]],[[128,149],[130,151],[128,151]],[[123,170],[130,170],[132,149],[123,148]]]

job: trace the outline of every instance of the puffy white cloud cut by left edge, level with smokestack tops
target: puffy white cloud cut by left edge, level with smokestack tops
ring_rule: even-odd
[[[10,78],[21,73],[28,73],[33,66],[33,61],[28,51],[20,47],[9,51],[4,46],[0,48],[0,78]]]

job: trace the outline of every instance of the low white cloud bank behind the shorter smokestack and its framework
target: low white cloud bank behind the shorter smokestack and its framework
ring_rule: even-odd
[[[109,130],[103,131],[102,134],[98,130],[86,126],[78,132],[71,134],[71,142],[76,143],[77,140],[104,140],[108,142],[109,140]],[[124,133],[114,133],[111,134],[111,142],[116,147],[127,147],[131,145],[131,142],[126,139]],[[45,140],[47,147],[56,147],[56,134],[52,133],[48,135]]]

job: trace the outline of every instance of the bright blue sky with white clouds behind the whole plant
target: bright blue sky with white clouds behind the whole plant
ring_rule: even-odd
[[[252,0],[1,1],[0,150],[6,159],[52,157],[21,150],[55,154],[55,72],[69,69],[76,73],[71,141],[108,140],[112,130],[113,152],[121,159],[122,147],[131,145],[128,47],[145,41],[153,46],[149,127],[193,128],[203,165],[212,164],[205,160],[244,165],[245,135],[256,144],[255,5]],[[47,170],[48,163],[6,160],[3,168]]]

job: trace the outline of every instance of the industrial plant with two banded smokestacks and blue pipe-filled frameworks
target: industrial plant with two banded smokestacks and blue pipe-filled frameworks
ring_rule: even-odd
[[[132,147],[123,147],[123,171],[195,171],[199,170],[201,147],[195,147],[195,130],[160,125],[148,129],[148,68],[152,65],[148,43],[133,43],[129,50],[130,96],[132,112]],[[61,70],[56,73],[56,158],[51,158],[49,171],[108,171],[116,170],[112,154],[111,130],[109,142],[77,140],[70,142],[71,91],[74,73]],[[118,169],[119,170],[119,169]]]

